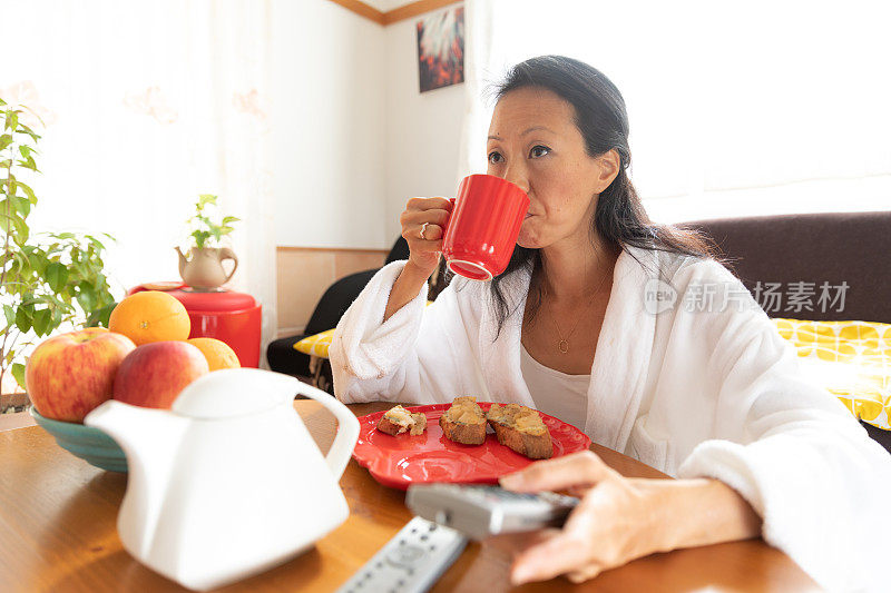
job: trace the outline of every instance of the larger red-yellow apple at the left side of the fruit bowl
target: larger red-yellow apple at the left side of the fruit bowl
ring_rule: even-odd
[[[46,339],[25,368],[28,397],[48,418],[84,422],[92,408],[111,398],[115,374],[134,348],[130,338],[102,327]]]

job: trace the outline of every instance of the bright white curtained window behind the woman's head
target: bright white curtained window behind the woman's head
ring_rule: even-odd
[[[467,0],[459,174],[484,170],[486,89],[527,58],[586,61],[621,91],[650,216],[891,208],[889,3]]]

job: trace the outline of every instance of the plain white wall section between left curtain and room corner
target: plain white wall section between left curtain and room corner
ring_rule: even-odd
[[[329,0],[273,2],[276,245],[389,248],[384,29]]]

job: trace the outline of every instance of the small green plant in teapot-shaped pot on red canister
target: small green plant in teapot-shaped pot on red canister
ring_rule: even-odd
[[[179,275],[195,290],[219,290],[219,286],[229,281],[238,267],[235,253],[223,245],[223,239],[234,230],[232,224],[238,221],[238,218],[224,216],[219,219],[215,213],[216,207],[216,196],[198,196],[195,216],[187,220],[193,229],[189,237],[194,240],[189,257],[183,255],[179,247],[175,248],[179,255]],[[234,263],[228,274],[223,269],[223,261],[226,259]]]

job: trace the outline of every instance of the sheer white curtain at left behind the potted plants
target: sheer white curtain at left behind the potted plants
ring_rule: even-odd
[[[0,0],[0,96],[33,108],[36,230],[109,233],[125,288],[176,280],[198,194],[237,216],[228,288],[275,333],[268,0]]]

